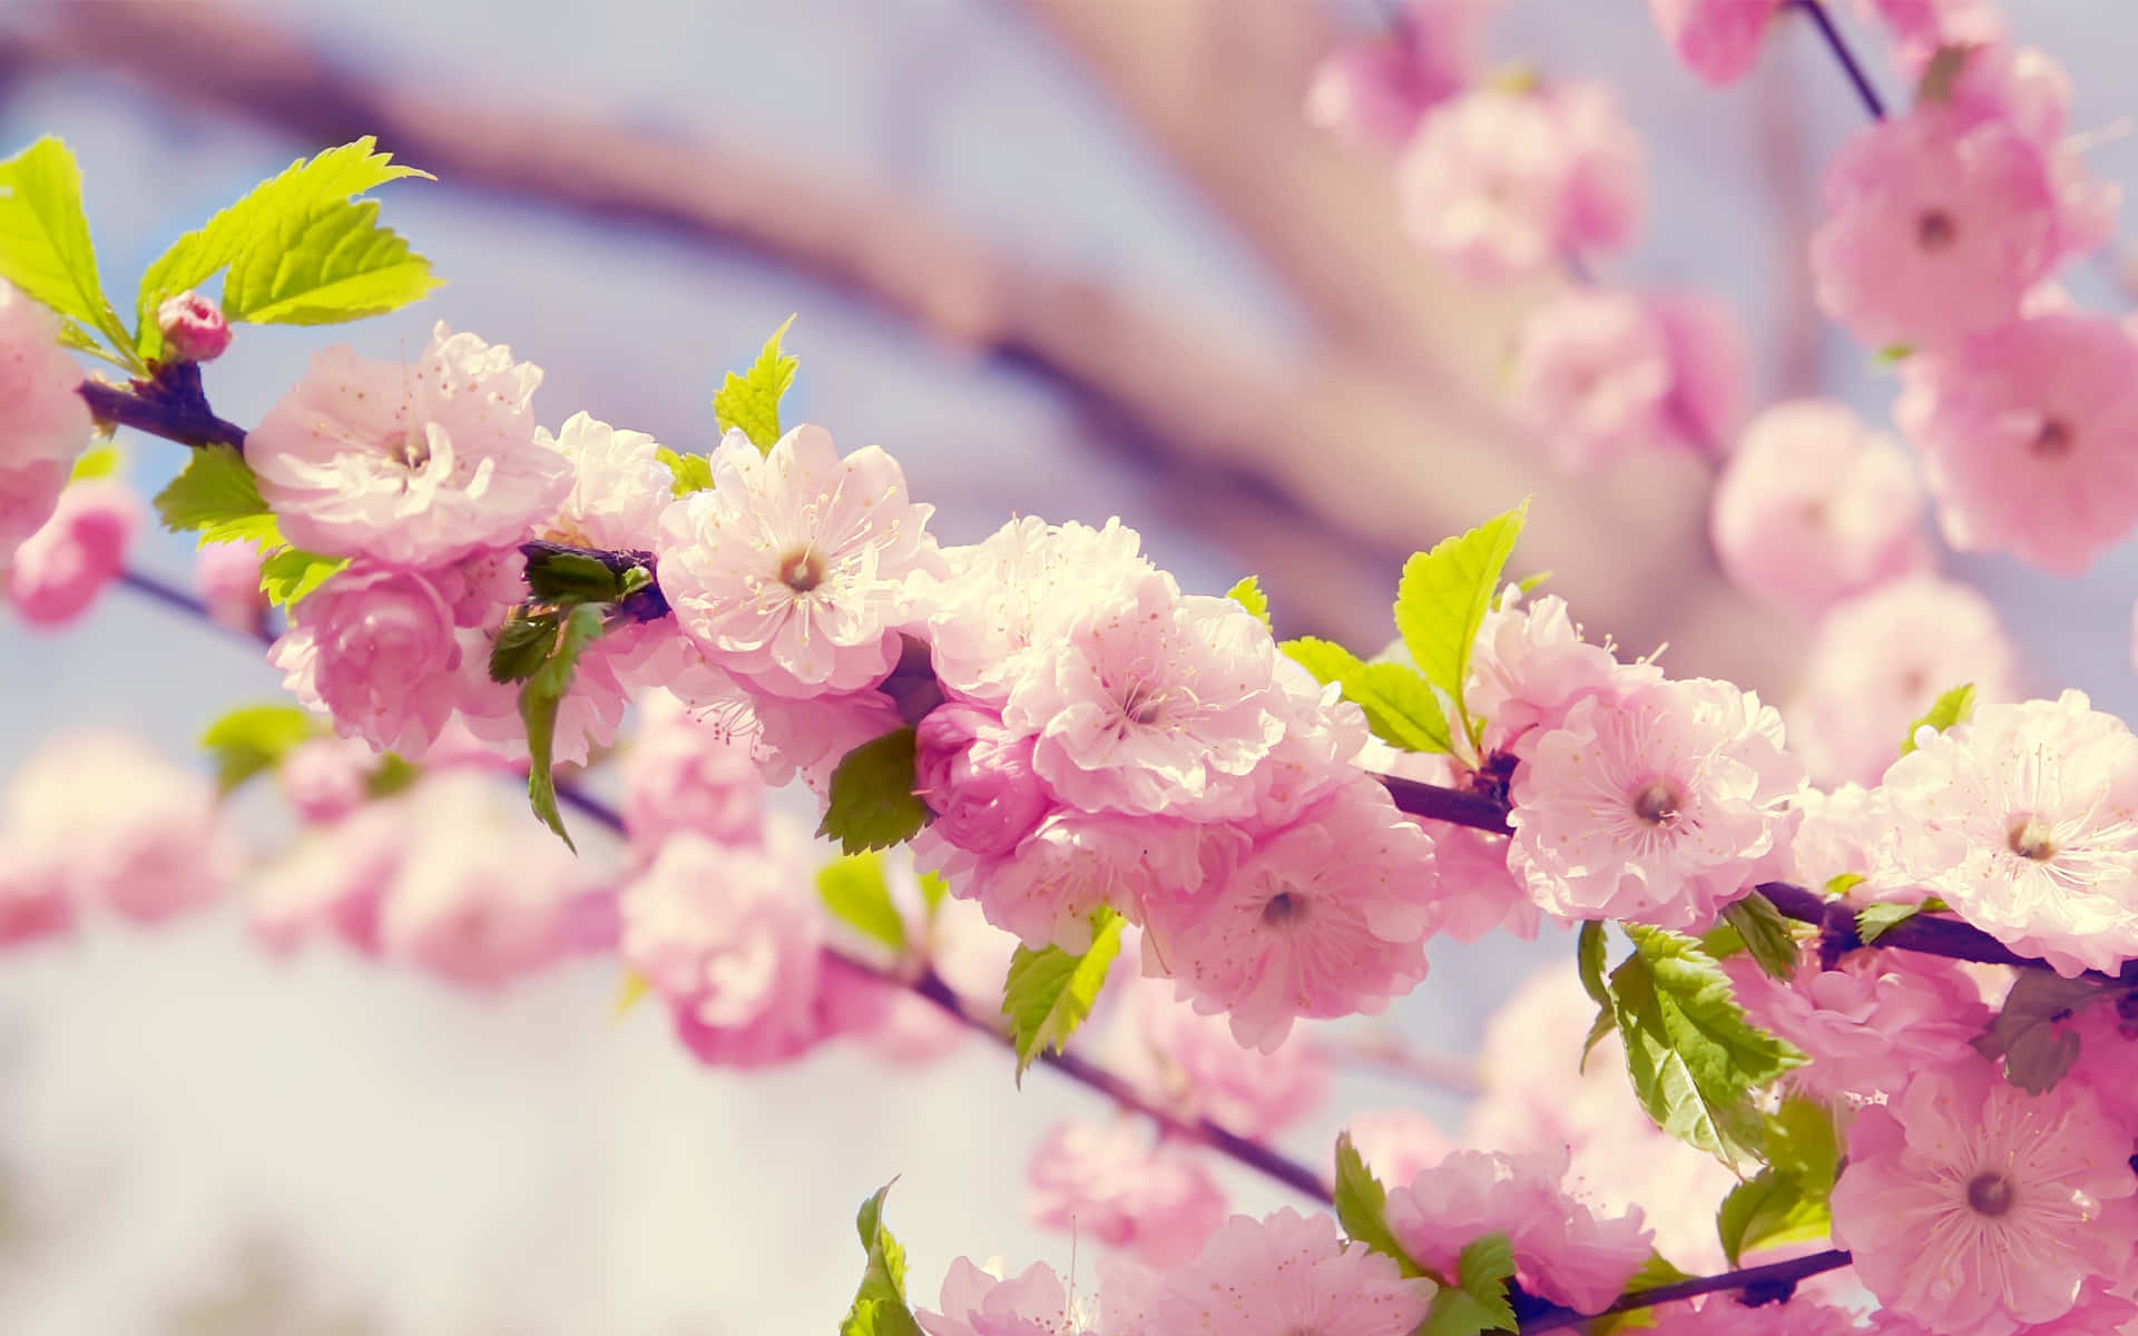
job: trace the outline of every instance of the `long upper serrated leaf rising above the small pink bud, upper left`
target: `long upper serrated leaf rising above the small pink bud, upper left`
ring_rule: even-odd
[[[297,158],[218,212],[205,227],[173,242],[141,274],[141,291],[135,297],[141,355],[162,353],[156,308],[165,297],[201,286],[227,265],[259,269],[274,263],[295,239],[310,233],[314,218],[346,209],[346,201],[355,195],[406,177],[432,180],[428,171],[402,167],[393,162],[393,154],[374,152],[376,147],[378,141],[366,135],[312,158]],[[229,301],[224,316],[237,319],[231,316]]]

